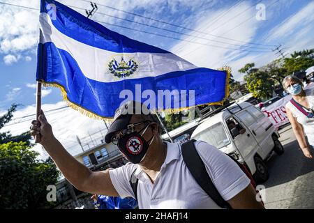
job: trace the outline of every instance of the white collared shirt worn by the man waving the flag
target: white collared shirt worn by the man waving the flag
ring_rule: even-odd
[[[181,144],[167,143],[167,157],[154,182],[140,165],[128,163],[110,170],[110,178],[120,197],[133,197],[130,176],[135,171],[139,179],[139,208],[220,208],[197,184],[181,155]],[[251,183],[239,166],[225,153],[204,141],[195,141],[195,148],[207,172],[225,201],[232,199]]]

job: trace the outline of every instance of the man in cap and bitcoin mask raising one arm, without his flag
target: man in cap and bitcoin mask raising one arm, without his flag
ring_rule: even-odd
[[[190,174],[181,144],[163,142],[155,116],[126,114],[129,106],[133,102],[117,110],[105,136],[106,142],[117,144],[130,161],[117,169],[93,172],[75,160],[54,137],[43,112],[39,123],[32,122],[32,134],[40,134],[40,144],[78,190],[133,197],[139,208],[220,208]],[[256,200],[251,181],[230,157],[203,141],[194,144],[214,186],[230,208],[263,208]],[[135,190],[130,184],[133,175],[138,179]]]

